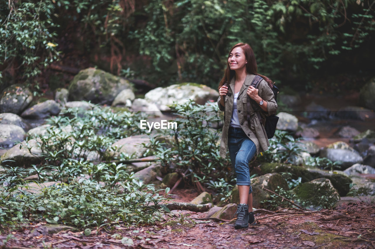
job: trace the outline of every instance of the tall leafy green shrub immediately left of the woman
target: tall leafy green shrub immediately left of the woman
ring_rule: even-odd
[[[210,184],[216,179],[230,182],[233,171],[228,169],[229,159],[219,156],[221,130],[211,128],[222,120],[217,104],[198,105],[190,100],[171,108],[178,115],[174,120],[177,129],[162,130],[159,138],[152,138],[150,144],[144,146],[155,151],[167,170],[189,177],[187,183],[198,180]]]

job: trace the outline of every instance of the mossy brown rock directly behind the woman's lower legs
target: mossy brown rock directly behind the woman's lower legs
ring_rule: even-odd
[[[275,191],[278,186],[285,190],[289,189],[287,181],[285,181],[285,179],[278,173],[269,173],[251,179],[251,188],[253,190],[253,207],[261,207],[263,206],[261,202],[271,198],[271,193],[263,190],[263,187],[267,188],[268,190]],[[233,188],[231,202],[240,203],[237,185]]]

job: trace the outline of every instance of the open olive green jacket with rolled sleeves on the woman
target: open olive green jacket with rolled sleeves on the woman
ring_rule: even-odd
[[[268,147],[270,146],[270,143],[267,139],[266,130],[264,130],[264,122],[265,117],[276,114],[276,110],[278,108],[278,104],[275,101],[273,92],[271,88],[268,86],[267,82],[265,80],[261,80],[261,82],[258,85],[258,95],[265,101],[267,101],[267,112],[261,111],[261,121],[259,121],[257,113],[254,111],[252,105],[250,105],[250,126],[248,125],[248,120],[246,119],[247,114],[247,101],[248,101],[248,95],[247,95],[247,89],[249,86],[251,86],[251,82],[253,81],[255,75],[254,74],[248,74],[246,76],[245,82],[243,83],[239,96],[237,98],[237,112],[238,112],[238,118],[241,125],[241,128],[246,133],[246,135],[254,142],[254,144],[257,146],[257,155],[263,151],[268,150]],[[233,101],[234,101],[234,82],[235,77],[231,80],[229,83],[228,93],[232,93],[230,96],[227,95],[224,98],[224,105],[222,106],[220,104],[220,98],[217,99],[217,105],[219,105],[220,111],[225,110],[225,117],[224,117],[224,125],[223,130],[221,134],[221,142],[220,142],[220,156],[222,158],[226,157],[226,151],[228,149],[228,129],[229,124],[231,122],[232,117],[232,111],[233,111]],[[245,116],[244,116],[245,115]]]

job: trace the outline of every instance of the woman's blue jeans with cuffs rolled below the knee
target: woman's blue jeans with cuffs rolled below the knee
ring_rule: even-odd
[[[257,147],[241,128],[229,127],[228,150],[231,163],[236,171],[237,185],[250,186],[249,162],[257,152]]]

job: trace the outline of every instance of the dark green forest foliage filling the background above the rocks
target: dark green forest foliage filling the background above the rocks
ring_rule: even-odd
[[[117,75],[157,85],[190,81],[215,87],[229,49],[247,42],[255,51],[259,73],[283,83],[303,80],[312,87],[309,82],[321,69],[371,70],[374,3],[3,1],[0,71],[5,84],[10,76],[27,82],[73,49],[89,58],[104,55],[110,63],[91,59],[90,65]]]

